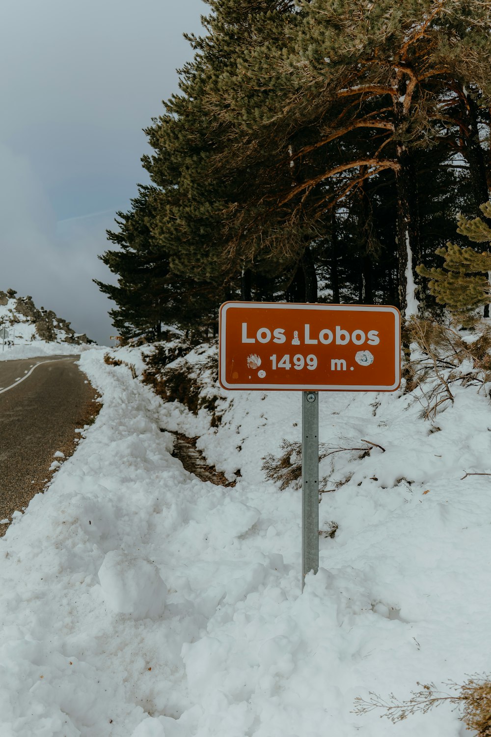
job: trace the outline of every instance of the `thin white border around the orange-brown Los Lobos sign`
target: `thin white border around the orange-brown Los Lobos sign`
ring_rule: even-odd
[[[227,335],[227,310],[232,307],[250,307],[251,309],[267,310],[323,310],[324,312],[391,312],[395,318],[395,328],[400,325],[400,312],[396,307],[384,304],[304,304],[299,302],[224,302],[219,313],[219,383],[223,388],[233,391],[234,389],[263,389],[264,391],[396,391],[400,386],[400,330],[395,329],[395,377],[396,383],[392,386],[365,386],[365,385],[338,385],[338,384],[229,384],[225,380],[226,372],[226,346]]]

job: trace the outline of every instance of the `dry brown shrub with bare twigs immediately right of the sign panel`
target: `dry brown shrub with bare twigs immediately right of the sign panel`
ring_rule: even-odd
[[[411,318],[403,340],[417,346],[405,367],[406,392],[419,388],[421,416],[434,419],[448,403],[453,403],[452,385],[475,385],[486,392],[491,380],[491,328],[482,323],[475,340],[465,340],[462,332],[431,320]]]

